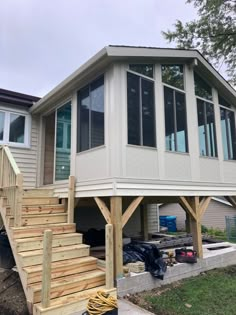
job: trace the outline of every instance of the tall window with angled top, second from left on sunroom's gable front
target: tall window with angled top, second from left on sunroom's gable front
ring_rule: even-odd
[[[166,150],[188,152],[183,66],[163,65],[162,82],[164,84]]]

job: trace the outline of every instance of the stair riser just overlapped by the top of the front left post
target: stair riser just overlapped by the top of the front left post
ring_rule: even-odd
[[[35,227],[26,228],[24,230],[12,230],[12,236],[14,239],[25,238],[25,237],[37,237],[42,236],[44,231],[50,229],[54,235],[75,233],[75,224],[67,224],[65,226],[48,226],[48,227]]]

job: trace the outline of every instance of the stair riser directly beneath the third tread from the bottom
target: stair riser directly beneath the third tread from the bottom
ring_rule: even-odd
[[[67,266],[65,266],[64,268],[60,268],[58,270],[52,270],[52,280],[58,279],[60,277],[79,274],[82,272],[93,271],[96,268],[97,268],[96,262],[91,263],[91,264],[87,264],[84,266],[79,266],[79,265],[76,265],[74,267],[69,266],[69,268],[67,268]],[[33,283],[37,283],[37,282],[41,282],[41,281],[42,281],[42,272],[35,272],[35,273],[33,273],[27,277],[27,284],[28,285],[33,284]]]

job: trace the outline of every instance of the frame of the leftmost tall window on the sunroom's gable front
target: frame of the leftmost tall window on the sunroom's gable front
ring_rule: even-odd
[[[133,63],[132,63],[133,64]],[[138,63],[136,63],[138,64]],[[143,63],[140,63],[142,65]],[[130,65],[130,64],[129,64]],[[127,145],[135,146],[135,147],[143,147],[149,149],[156,149],[157,148],[157,136],[156,136],[156,95],[155,95],[155,65],[153,65],[153,78],[148,77],[142,73],[135,72],[133,70],[126,69],[126,90],[128,90],[128,73],[136,75],[139,77],[139,133],[140,133],[140,144],[132,144],[129,143],[129,126],[128,126],[128,93],[126,92],[126,104],[127,104]],[[154,116],[154,146],[148,146],[143,144],[143,107],[142,107],[142,79],[152,82],[153,83],[153,116]]]

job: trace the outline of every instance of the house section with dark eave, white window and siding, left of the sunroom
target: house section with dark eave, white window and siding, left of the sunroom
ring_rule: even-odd
[[[0,89],[0,146],[7,144],[24,174],[25,188],[36,186],[38,118],[29,113],[40,98]]]

